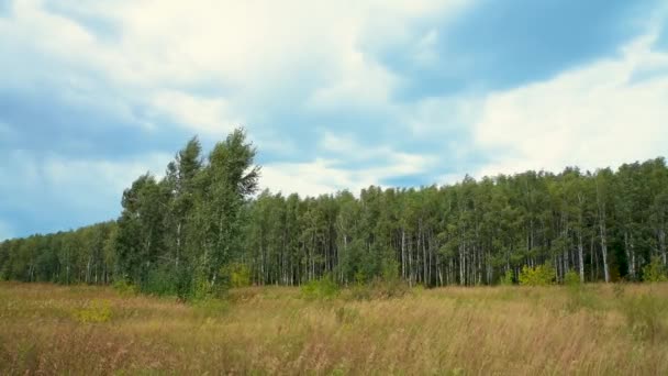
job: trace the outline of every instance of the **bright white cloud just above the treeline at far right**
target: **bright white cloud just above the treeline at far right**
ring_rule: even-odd
[[[476,176],[593,169],[666,155],[668,54],[652,44],[653,35],[644,36],[624,46],[620,58],[490,95],[475,140],[493,162]],[[638,79],[659,68],[663,74]]]

